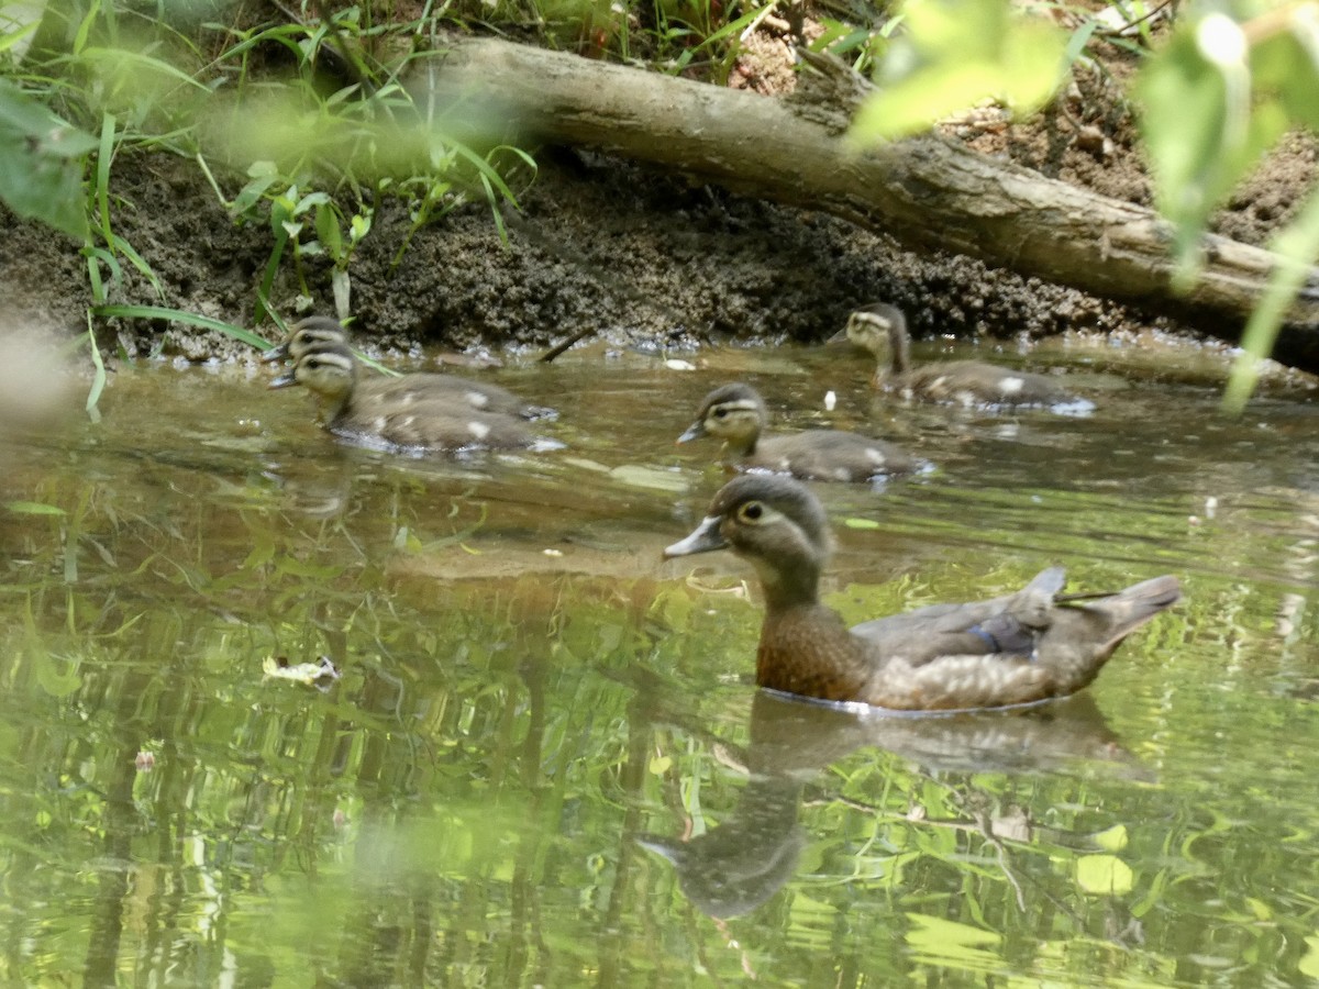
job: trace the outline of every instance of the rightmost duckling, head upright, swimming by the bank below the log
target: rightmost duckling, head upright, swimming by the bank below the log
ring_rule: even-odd
[[[1045,375],[1000,368],[979,360],[948,360],[911,367],[911,339],[902,310],[885,302],[856,310],[831,339],[851,340],[874,355],[874,384],[923,402],[968,407],[1039,405],[1059,411],[1089,411],[1093,404],[1067,394]]]

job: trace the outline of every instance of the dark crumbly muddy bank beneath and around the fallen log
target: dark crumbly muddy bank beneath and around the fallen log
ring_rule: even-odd
[[[1095,149],[1060,141],[1058,121],[963,128],[989,154],[1108,195],[1146,203],[1149,186],[1129,127]],[[1315,173],[1311,138],[1293,138],[1224,211],[1217,228],[1264,244]],[[818,342],[857,305],[888,299],[914,332],[1033,338],[1064,330],[1194,334],[1148,311],[946,255],[915,255],[892,239],[818,212],[695,186],[600,154],[541,149],[538,173],[505,210],[505,244],[484,204],[462,207],[408,243],[406,206],[377,204],[350,266],[356,328],[384,347],[438,344],[547,348],[582,331],[644,348],[704,342]],[[240,177],[222,178],[226,195]],[[165,154],[121,156],[112,189],[116,233],[150,265],[161,291],[124,261],[112,302],[160,305],[252,326],[274,240],[266,222],[236,222],[199,170]],[[84,332],[91,303],[78,245],[13,222],[0,244],[0,286],[22,326]],[[330,264],[286,256],[272,294],[285,318],[331,313]],[[307,301],[310,299],[310,305]],[[272,324],[259,327],[276,336]],[[249,348],[191,327],[107,320],[109,356],[247,359]]]

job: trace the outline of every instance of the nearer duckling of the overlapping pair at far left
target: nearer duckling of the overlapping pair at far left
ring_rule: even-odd
[[[322,342],[303,348],[270,388],[302,385],[319,400],[330,433],[376,448],[510,450],[538,443],[522,419],[472,409],[454,392],[401,386],[409,377],[415,376],[359,380],[352,351]]]

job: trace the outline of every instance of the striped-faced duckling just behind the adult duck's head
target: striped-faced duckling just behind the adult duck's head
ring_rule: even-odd
[[[706,396],[696,421],[678,442],[718,436],[737,467],[820,481],[868,481],[919,467],[910,454],[880,439],[842,430],[770,436],[764,435],[768,422],[765,400],[754,388],[721,385]]]

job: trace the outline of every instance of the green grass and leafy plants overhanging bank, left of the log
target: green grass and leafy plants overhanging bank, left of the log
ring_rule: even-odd
[[[99,1],[18,13],[28,21],[0,38],[0,57],[21,53],[33,34],[44,45],[29,54],[21,75],[11,62],[15,82],[0,78],[0,198],[18,215],[83,240],[100,314],[127,287],[129,270],[164,294],[149,260],[116,231],[111,167],[125,152],[191,158],[237,222],[269,224],[257,322],[268,315],[276,280],[290,261],[302,295],[294,307],[307,305],[306,262],[321,257],[330,261],[336,309],[350,310],[350,262],[371,235],[381,196],[412,206],[409,240],[474,199],[489,204],[503,232],[500,210],[516,206],[508,175],[534,174],[526,152],[505,146],[501,119],[492,115],[476,131],[459,128],[413,104],[400,82],[413,55],[386,66],[367,54],[388,47],[386,36],[423,53],[425,34],[437,24],[429,11],[422,20],[388,25],[371,24],[359,7],[336,11],[330,21],[252,29],[212,24],[230,41],[214,57],[165,22],[185,13],[177,8],[158,20],[125,17],[113,3]],[[277,74],[281,62],[291,78]],[[78,124],[99,131],[100,140]],[[223,190],[235,173],[247,182],[231,198]],[[226,324],[218,328],[230,332]]]

